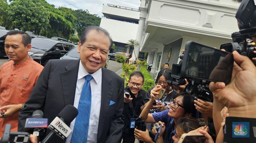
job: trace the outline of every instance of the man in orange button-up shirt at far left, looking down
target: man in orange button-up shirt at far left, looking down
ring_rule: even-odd
[[[30,49],[31,37],[27,33],[20,30],[7,33],[5,52],[11,61],[0,68],[0,137],[6,124],[11,124],[11,131],[18,130],[18,113],[44,68],[28,56]]]

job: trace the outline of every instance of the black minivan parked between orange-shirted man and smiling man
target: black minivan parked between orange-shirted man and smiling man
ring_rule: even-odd
[[[28,55],[41,65],[45,65],[50,59],[59,59],[75,47],[74,44],[47,38],[32,38],[31,51]]]

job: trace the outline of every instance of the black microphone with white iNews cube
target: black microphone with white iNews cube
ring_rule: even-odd
[[[67,105],[61,110],[59,115],[49,124],[50,133],[44,138],[42,143],[49,142],[54,135],[59,136],[63,140],[71,133],[71,129],[67,125],[71,123],[78,115],[78,110],[73,105]]]

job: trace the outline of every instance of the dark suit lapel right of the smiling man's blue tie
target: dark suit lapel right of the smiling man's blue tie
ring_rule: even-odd
[[[102,134],[104,121],[107,115],[106,113],[109,108],[113,89],[115,88],[111,84],[111,82],[112,82],[112,78],[108,74],[108,70],[106,70],[105,68],[102,68],[101,105],[100,105],[100,118],[99,118],[99,124],[98,124],[97,140],[99,140]]]

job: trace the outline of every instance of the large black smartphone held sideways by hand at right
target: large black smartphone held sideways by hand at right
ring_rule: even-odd
[[[190,79],[229,84],[233,65],[232,53],[188,41],[185,45],[181,75]]]

